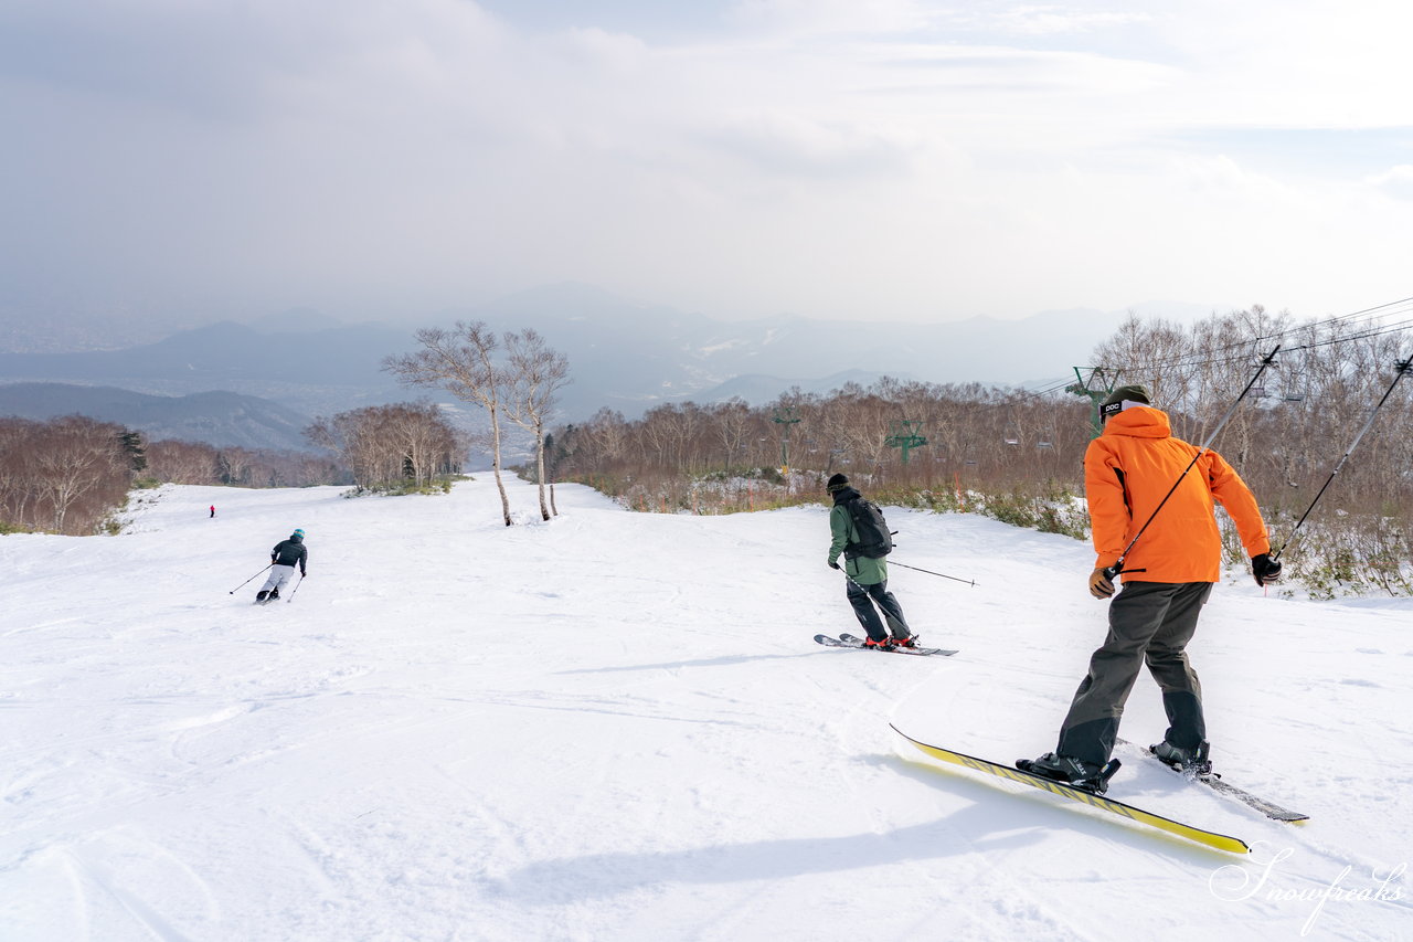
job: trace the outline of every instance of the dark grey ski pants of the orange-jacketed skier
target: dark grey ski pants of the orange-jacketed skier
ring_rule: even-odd
[[[1089,673],[1070,703],[1056,752],[1104,765],[1119,735],[1123,704],[1139,670],[1163,690],[1173,745],[1194,748],[1207,738],[1202,686],[1187,663],[1187,642],[1212,593],[1211,583],[1125,583],[1109,603],[1109,635],[1089,659]]]

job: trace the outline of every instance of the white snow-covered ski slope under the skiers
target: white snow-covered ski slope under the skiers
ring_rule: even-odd
[[[1218,769],[1111,795],[1204,849],[945,767],[1053,748],[1105,631],[1075,540],[890,511],[924,642],[856,631],[825,508],[629,513],[578,487],[168,487],[117,537],[0,537],[0,939],[1413,936],[1413,607],[1214,593]],[[209,519],[215,502],[218,516]],[[291,601],[252,605],[308,532]],[[288,597],[288,590],[287,590]],[[1146,676],[1123,734],[1166,721]]]

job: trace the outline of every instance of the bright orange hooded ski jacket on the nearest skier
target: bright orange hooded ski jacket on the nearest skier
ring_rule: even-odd
[[[1197,463],[1197,446],[1173,437],[1167,413],[1130,406],[1104,424],[1084,453],[1095,569],[1113,566],[1143,523],[1173,496],[1123,560],[1123,580],[1215,583],[1221,580],[1221,533],[1214,501],[1236,523],[1246,556],[1270,552],[1270,537],[1251,488],[1215,451]],[[1191,464],[1191,470],[1183,470]],[[1133,571],[1143,570],[1143,571]]]

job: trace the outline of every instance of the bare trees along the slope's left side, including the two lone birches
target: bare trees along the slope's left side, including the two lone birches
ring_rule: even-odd
[[[318,451],[280,453],[191,441],[148,441],[113,423],[83,416],[49,421],[0,419],[0,532],[85,535],[113,529],[134,487],[161,482],[232,487],[353,484],[355,492],[448,489],[473,446],[487,444],[504,523],[510,501],[502,479],[502,429],[534,437],[540,512],[550,519],[545,444],[568,361],[534,330],[496,334],[482,322],[415,332],[420,349],[383,366],[410,386],[431,386],[485,410],[485,433],[458,427],[454,414],[421,402],[366,406],[318,416],[305,438]]]

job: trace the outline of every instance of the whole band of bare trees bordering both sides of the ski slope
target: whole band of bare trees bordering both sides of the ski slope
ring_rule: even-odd
[[[427,402],[318,417],[305,430],[326,455],[192,443],[148,443],[109,423],[68,417],[0,420],[0,521],[13,528],[93,532],[136,479],[243,487],[353,482],[360,491],[448,487],[472,440],[492,453],[504,523],[503,424],[534,437],[526,477],[589,484],[644,511],[719,513],[820,499],[844,471],[872,496],[937,511],[979,511],[1022,526],[1087,536],[1082,458],[1096,403],[1142,383],[1173,433],[1210,443],[1246,478],[1277,547],[1317,594],[1351,587],[1413,591],[1413,379],[1392,392],[1395,364],[1413,355],[1406,330],[1351,318],[1296,321],[1262,307],[1193,322],[1129,317],[1074,382],[1048,389],[885,378],[828,393],[791,389],[764,406],[740,399],[664,403],[629,420],[601,409],[551,426],[568,362],[533,330],[482,322],[414,334],[418,348],[383,368],[482,412],[479,438]],[[1256,365],[1279,342],[1262,380]],[[1358,429],[1385,396],[1372,433]],[[1239,405],[1236,405],[1239,400]],[[328,457],[332,455],[332,457]],[[1338,481],[1331,470],[1338,468]],[[1332,485],[1332,487],[1331,487]],[[1297,519],[1317,502],[1296,539]],[[1229,533],[1232,562],[1239,545]]]

